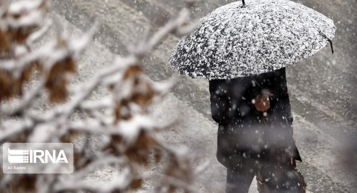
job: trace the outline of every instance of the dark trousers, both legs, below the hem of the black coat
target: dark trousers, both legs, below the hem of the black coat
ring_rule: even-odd
[[[297,193],[295,175],[290,162],[264,163],[258,168],[241,173],[228,168],[226,193],[247,193],[258,171],[271,193]]]

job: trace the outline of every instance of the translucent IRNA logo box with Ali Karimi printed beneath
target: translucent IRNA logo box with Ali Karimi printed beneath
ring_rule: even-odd
[[[73,173],[72,143],[4,143],[4,173]]]

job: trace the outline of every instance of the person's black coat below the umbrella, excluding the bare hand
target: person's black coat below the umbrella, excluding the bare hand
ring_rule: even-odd
[[[255,98],[270,97],[269,120],[256,110]],[[211,113],[218,126],[217,159],[227,168],[251,168],[279,151],[301,161],[293,142],[292,115],[285,68],[254,77],[210,80]]]

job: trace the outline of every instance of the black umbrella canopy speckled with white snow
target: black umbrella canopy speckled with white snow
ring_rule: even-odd
[[[176,45],[170,62],[192,78],[257,75],[313,56],[335,31],[332,20],[293,1],[237,1],[203,17]]]

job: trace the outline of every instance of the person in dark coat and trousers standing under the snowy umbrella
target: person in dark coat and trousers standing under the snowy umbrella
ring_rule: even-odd
[[[248,192],[258,172],[270,192],[296,193],[291,161],[302,160],[293,140],[285,68],[209,83],[226,193]]]

